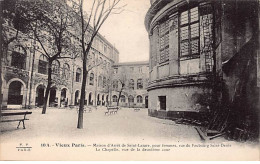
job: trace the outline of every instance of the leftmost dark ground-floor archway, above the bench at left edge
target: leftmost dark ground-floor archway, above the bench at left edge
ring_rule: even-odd
[[[8,101],[10,105],[22,105],[23,103],[23,84],[20,81],[13,81],[8,88]]]

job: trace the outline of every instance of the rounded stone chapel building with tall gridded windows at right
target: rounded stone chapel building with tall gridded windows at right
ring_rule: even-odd
[[[172,118],[226,109],[223,118],[233,117],[238,127],[255,122],[258,8],[258,0],[151,0],[145,18],[149,114]]]

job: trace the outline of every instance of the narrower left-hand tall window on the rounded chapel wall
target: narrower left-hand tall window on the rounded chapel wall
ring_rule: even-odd
[[[164,21],[159,27],[160,35],[160,63],[169,60],[169,20]]]

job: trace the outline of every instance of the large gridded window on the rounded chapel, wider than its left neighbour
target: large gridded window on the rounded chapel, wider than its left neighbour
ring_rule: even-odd
[[[180,56],[199,57],[199,13],[194,7],[180,14]]]

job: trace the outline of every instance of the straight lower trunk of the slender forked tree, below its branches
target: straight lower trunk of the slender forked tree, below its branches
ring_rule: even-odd
[[[86,59],[87,54],[84,54],[84,59]],[[86,82],[87,82],[87,69],[86,60],[83,59],[83,77],[82,77],[82,84],[81,84],[81,94],[80,94],[80,103],[79,103],[79,115],[78,115],[78,129],[83,129],[83,113],[84,113],[84,101],[86,97]]]

